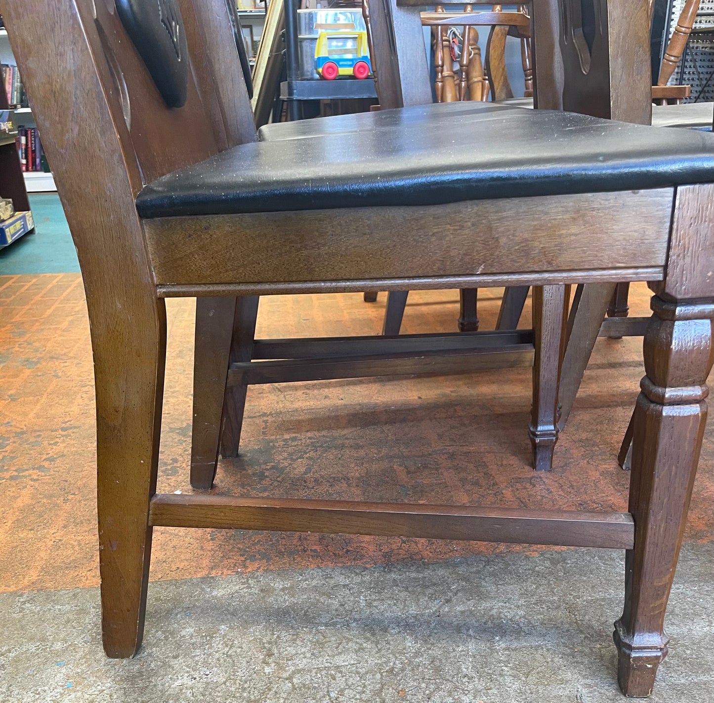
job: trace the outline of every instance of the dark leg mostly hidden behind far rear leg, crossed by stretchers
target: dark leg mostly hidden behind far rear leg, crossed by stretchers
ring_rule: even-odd
[[[233,343],[231,343],[231,363],[250,361],[253,357],[253,341],[256,337],[258,319],[258,295],[244,295],[238,298],[236,317],[233,320]],[[243,414],[246,410],[248,385],[240,383],[226,388],[221,423],[221,456],[238,456],[241,443]]]

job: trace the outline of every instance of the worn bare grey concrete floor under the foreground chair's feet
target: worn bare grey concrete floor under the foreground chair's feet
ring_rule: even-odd
[[[155,582],[144,647],[106,659],[99,591],[0,595],[13,703],[609,703],[619,552],[503,554]],[[714,701],[714,545],[685,545],[650,700]]]

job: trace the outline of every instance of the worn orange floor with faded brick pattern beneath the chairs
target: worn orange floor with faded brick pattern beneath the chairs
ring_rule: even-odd
[[[376,334],[385,297],[378,303],[358,294],[263,298],[257,334]],[[496,289],[480,291],[483,329],[493,328],[499,300]],[[630,304],[633,315],[648,314],[643,285],[633,286]],[[194,301],[166,305],[159,490],[187,492]],[[457,316],[456,291],[413,293],[403,332],[453,331]],[[79,274],[0,276],[0,360],[0,591],[97,585],[94,380]],[[641,340],[598,340],[549,475],[528,465],[526,369],[253,387],[242,455],[221,463],[214,490],[625,510],[628,474],[615,455],[642,373]],[[712,539],[712,440],[710,418],[687,540]],[[159,528],[151,577],[541,549]]]

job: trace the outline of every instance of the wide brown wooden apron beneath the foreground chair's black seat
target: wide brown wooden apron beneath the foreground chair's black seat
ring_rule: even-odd
[[[504,258],[512,273],[656,267],[665,260],[672,197],[670,188],[660,188],[160,218],[146,221],[144,230],[160,285],[488,275],[503,269]],[[438,250],[433,231],[439,232]]]

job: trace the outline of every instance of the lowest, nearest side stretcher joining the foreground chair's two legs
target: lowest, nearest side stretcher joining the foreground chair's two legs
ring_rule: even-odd
[[[626,512],[173,494],[154,496],[151,525],[393,535],[606,549],[631,547],[634,532],[632,518]]]

